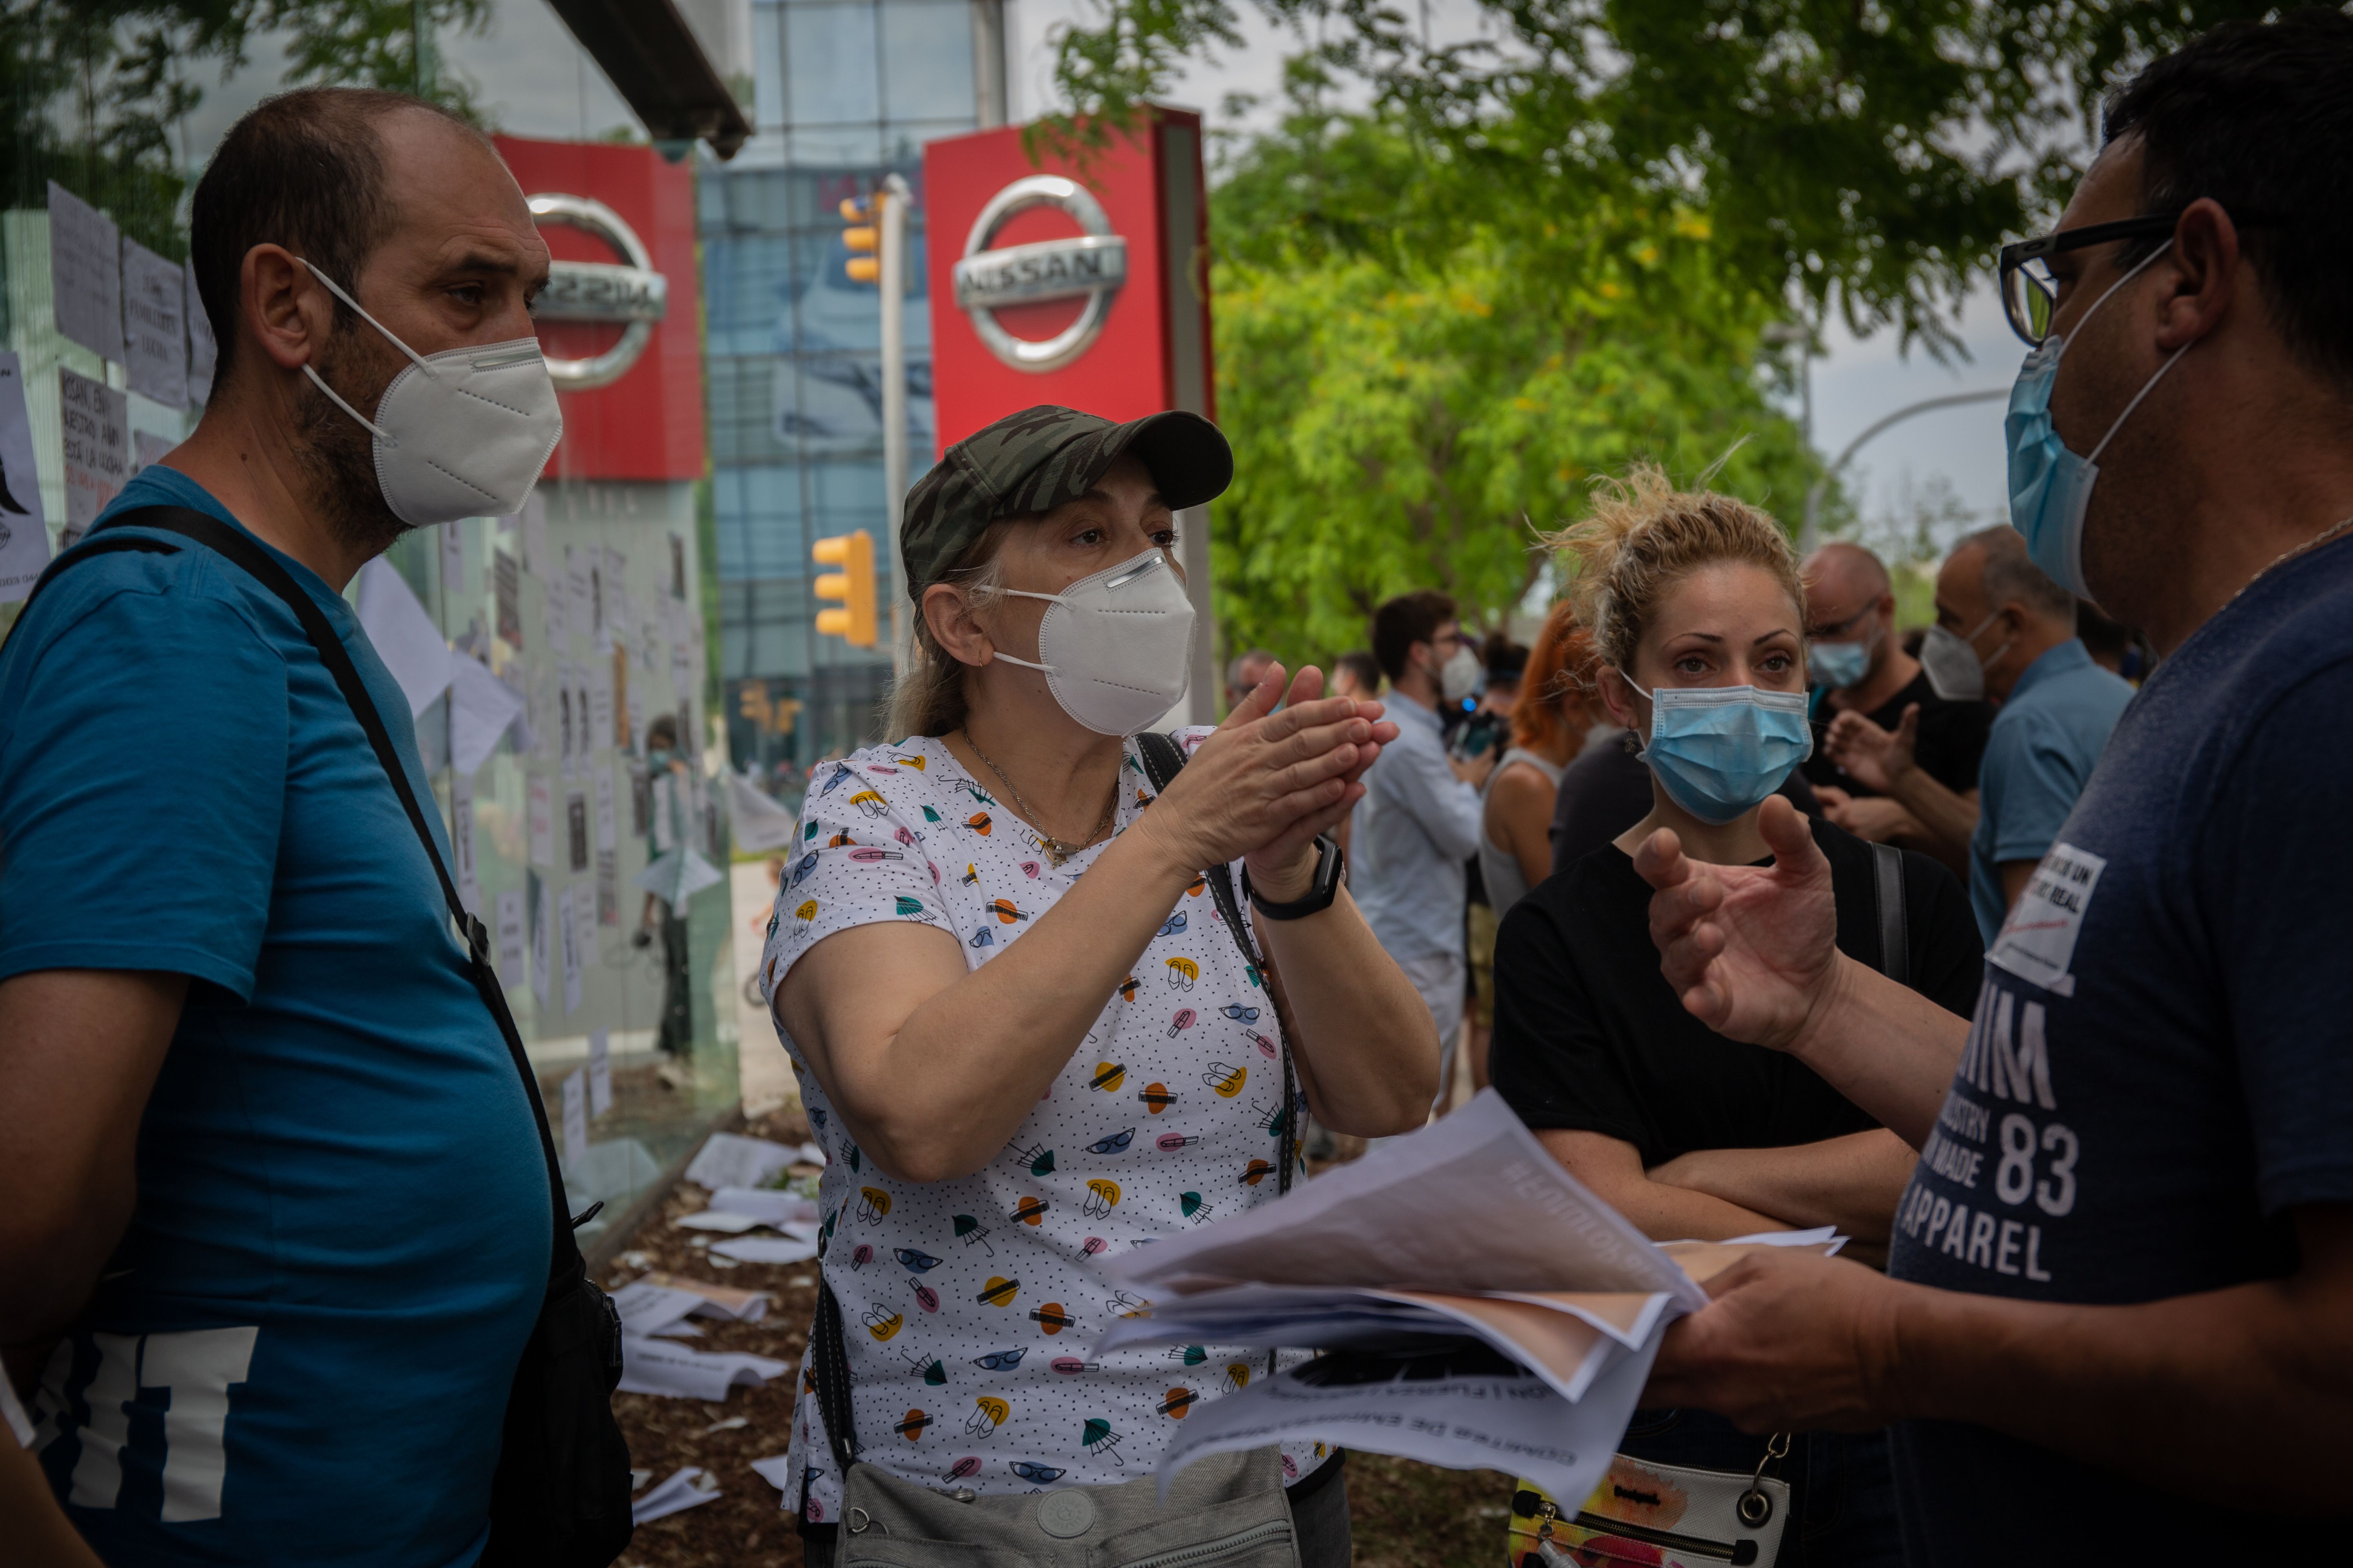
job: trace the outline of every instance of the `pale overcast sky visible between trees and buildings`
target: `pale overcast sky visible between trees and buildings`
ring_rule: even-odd
[[[1080,16],[1087,2],[1007,0],[1014,118],[1035,115],[1052,101],[1052,31]],[[1438,40],[1473,38],[1480,21],[1480,9],[1468,0],[1428,2],[1428,26]],[[1247,129],[1252,118],[1245,115],[1240,122],[1228,118],[1226,99],[1231,94],[1271,99],[1280,82],[1282,56],[1297,42],[1268,28],[1254,12],[1245,21],[1245,33],[1242,49],[1221,52],[1186,71],[1169,99],[1205,110],[1212,127]],[[492,0],[489,35],[447,40],[445,54],[478,85],[478,99],[499,129],[522,136],[595,136],[616,125],[633,125],[602,71],[572,42],[544,0]],[[280,71],[278,47],[259,40],[247,71],[228,82],[207,80],[205,106],[186,127],[191,150],[200,155],[209,148],[235,115],[278,85]],[[1814,364],[1814,444],[1824,456],[1833,456],[1868,423],[1904,404],[1960,390],[2007,388],[2026,350],[2002,324],[1991,284],[1967,301],[1960,339],[1969,357],[1939,364],[1922,350],[1899,355],[1894,334],[1857,341],[1833,324],[1826,331],[1826,353]],[[1986,402],[1906,421],[1857,456],[1849,480],[1859,480],[1857,496],[1866,515],[1894,510],[1906,494],[1918,496],[1941,480],[1977,522],[2000,522],[2007,517],[2002,404]]]

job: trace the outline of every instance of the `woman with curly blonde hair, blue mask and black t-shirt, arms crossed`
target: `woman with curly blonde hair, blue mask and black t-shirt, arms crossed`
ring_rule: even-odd
[[[1678,491],[1642,465],[1553,543],[1577,557],[1598,698],[1642,743],[1652,811],[1504,917],[1494,1086],[1657,1241],[1835,1225],[1854,1237],[1849,1253],[1885,1255],[1911,1150],[1814,1072],[1682,1009],[1652,957],[1649,884],[1631,858],[1659,827],[1713,863],[1769,858],[1758,809],[1812,745],[1788,541],[1744,501]],[[1812,839],[1831,865],[1840,950],[1889,966],[1873,849],[1826,820]],[[1932,1001],[1967,1006],[1979,945],[1960,884],[1927,856],[1892,853],[1906,933],[1894,964]],[[1746,1479],[1767,1439],[1654,1408],[1635,1413],[1621,1448]],[[1791,1483],[1788,1542],[1802,1540],[1805,1563],[1904,1561],[1882,1432],[1800,1436],[1769,1474]]]

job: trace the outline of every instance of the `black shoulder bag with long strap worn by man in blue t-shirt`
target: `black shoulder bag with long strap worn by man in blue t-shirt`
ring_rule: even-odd
[[[621,1314],[588,1279],[588,1265],[572,1237],[572,1227],[595,1215],[595,1208],[579,1220],[565,1211],[565,1178],[555,1161],[555,1138],[548,1133],[548,1110],[539,1098],[532,1060],[522,1051],[522,1034],[515,1030],[513,1013],[506,1011],[506,990],[489,961],[489,931],[459,903],[456,884],[449,882],[449,870],[440,860],[431,827],[426,827],[426,813],[400,766],[400,752],[393,750],[393,736],[384,729],[384,717],[367,696],[367,684],[351,663],[344,639],[334,635],[334,625],[318,602],[247,534],[184,505],[120,512],[92,529],[78,548],[49,562],[49,569],[33,583],[33,595],[52,576],[92,555],[174,550],[174,545],[136,534],[115,534],[115,529],[155,529],[191,538],[285,599],[344,701],[351,703],[351,715],[367,731],[367,743],[376,750],[376,762],[384,764],[384,776],[391,778],[393,795],[400,797],[400,809],[407,811],[416,842],[424,844],[426,860],[433,863],[433,875],[440,877],[442,898],[449,900],[449,919],[456,922],[466,940],[473,987],[499,1023],[515,1072],[522,1074],[522,1091],[532,1103],[532,1119],[539,1124],[539,1152],[548,1161],[553,1208],[548,1291],[506,1396],[499,1469],[489,1488],[489,1544],[480,1561],[485,1568],[605,1568],[621,1556],[633,1530],[628,1441],[612,1415],[612,1392],[621,1382]],[[31,607],[31,595],[26,607]]]

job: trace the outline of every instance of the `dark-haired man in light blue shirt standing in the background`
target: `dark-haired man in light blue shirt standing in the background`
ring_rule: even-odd
[[[1464,910],[1478,853],[1480,788],[1494,750],[1447,755],[1445,719],[1478,691],[1478,642],[1464,635],[1454,599],[1405,592],[1372,611],[1372,656],[1388,677],[1398,738],[1365,773],[1365,799],[1348,820],[1355,896],[1381,950],[1421,992],[1440,1041],[1440,1095],[1454,1081],[1471,957]]]

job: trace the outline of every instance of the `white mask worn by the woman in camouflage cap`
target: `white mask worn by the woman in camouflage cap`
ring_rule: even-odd
[[[1082,576],[1061,592],[1007,588],[1045,599],[1038,663],[1061,710],[1099,736],[1132,736],[1186,693],[1193,679],[1193,599],[1158,548]]]

